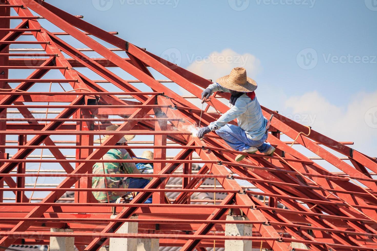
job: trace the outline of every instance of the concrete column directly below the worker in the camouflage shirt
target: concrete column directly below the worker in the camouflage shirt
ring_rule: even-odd
[[[116,215],[112,215],[110,218],[114,219]],[[137,219],[138,216],[131,216],[130,219]],[[138,223],[137,222],[124,222],[123,225],[115,232],[121,234],[137,234]],[[136,238],[110,238],[110,251],[136,251],[136,245],[138,239]]]

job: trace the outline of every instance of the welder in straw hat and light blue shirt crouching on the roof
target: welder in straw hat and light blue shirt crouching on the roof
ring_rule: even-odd
[[[268,120],[263,116],[255,90],[257,83],[247,77],[246,70],[236,67],[230,75],[219,78],[202,92],[202,99],[209,98],[213,92],[230,92],[230,109],[217,121],[199,129],[198,137],[215,130],[217,135],[227,142],[234,150],[244,153],[256,153],[258,150],[265,155],[272,155],[275,148],[265,143],[268,136]],[[238,126],[227,124],[237,119]],[[238,155],[236,161],[241,161],[245,155]]]

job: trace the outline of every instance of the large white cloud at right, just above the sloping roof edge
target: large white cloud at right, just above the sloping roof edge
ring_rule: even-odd
[[[312,126],[314,130],[337,141],[353,141],[354,148],[377,155],[377,92],[359,92],[346,107],[339,107],[318,92],[294,96],[285,101],[285,116]]]

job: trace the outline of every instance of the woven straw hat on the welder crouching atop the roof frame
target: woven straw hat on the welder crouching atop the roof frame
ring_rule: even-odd
[[[252,92],[257,89],[257,83],[253,79],[247,77],[246,69],[243,67],[234,68],[230,72],[230,75],[221,77],[216,82],[222,87],[237,92]]]

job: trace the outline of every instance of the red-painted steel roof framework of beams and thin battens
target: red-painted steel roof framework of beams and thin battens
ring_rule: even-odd
[[[17,15],[11,16],[11,8]],[[47,31],[39,18],[63,32]],[[4,72],[0,88],[5,89],[0,90],[0,187],[5,186],[0,191],[0,250],[20,243],[20,237],[24,243],[38,245],[50,236],[73,236],[79,250],[91,251],[110,237],[124,236],[159,238],[161,246],[181,246],[182,250],[204,250],[213,247],[213,241],[216,247],[224,247],[225,239],[253,240],[254,248],[281,251],[292,250],[291,242],[304,243],[312,250],[377,249],[377,161],[347,146],[353,142],[337,142],[313,129],[309,136],[299,135],[308,128],[262,107],[266,117],[274,114],[267,141],[277,151],[271,157],[247,154],[242,162],[235,162],[238,152],[215,133],[203,141],[191,134],[201,109],[172,90],[180,86],[194,101],[211,81],[47,2],[9,0],[0,5],[0,19],[0,71]],[[11,27],[10,19],[21,23]],[[24,35],[36,41],[23,41]],[[71,36],[88,48],[74,48],[60,35]],[[103,42],[114,48],[106,48]],[[12,44],[36,44],[40,49],[18,48],[13,51],[20,53],[12,54]],[[103,58],[90,58],[85,51]],[[126,52],[127,58],[114,51]],[[103,80],[92,80],[76,67],[86,67]],[[135,79],[124,80],[107,67],[119,67]],[[9,74],[9,69],[34,71],[20,79],[17,73]],[[55,78],[44,78],[51,70],[57,73]],[[155,71],[167,80],[156,80],[151,73]],[[152,91],[139,90],[143,84]],[[61,91],[49,92],[48,85]],[[113,87],[119,91],[107,90]],[[224,93],[216,95],[229,98]],[[206,104],[201,126],[219,117],[208,112],[210,106],[220,113],[228,109],[216,95]],[[105,132],[112,123],[120,126],[118,130]],[[291,139],[281,141],[279,132]],[[104,143],[93,145],[94,137],[105,134],[110,137]],[[101,157],[123,135],[146,137],[120,148],[131,154],[153,150],[154,160],[145,162],[155,163],[154,173],[143,174],[153,179],[146,188],[132,190],[139,193],[126,207],[99,204],[91,191],[115,189],[91,188],[92,177],[98,176],[92,174],[92,165],[107,162]],[[302,145],[320,160],[309,159],[290,144]],[[41,154],[43,150],[50,153]],[[343,173],[328,171],[320,161]],[[54,169],[37,171],[29,166],[45,163],[53,163],[48,165]],[[38,179],[35,186],[29,184],[31,178]],[[171,186],[176,180],[179,184]],[[239,181],[248,185],[241,186]],[[31,191],[35,191],[32,198]],[[36,195],[42,191],[49,194]],[[74,197],[62,198],[66,192]],[[205,199],[192,197],[204,193]],[[208,194],[215,194],[216,202]],[[151,195],[153,204],[144,204]],[[66,200],[73,203],[63,203]],[[112,206],[116,206],[115,219],[110,219]],[[228,213],[248,220],[227,222]],[[133,214],[139,219],[129,219]],[[114,234],[123,222],[139,222],[139,233]],[[253,237],[225,236],[225,223],[253,224]],[[74,232],[50,233],[52,227]]]

